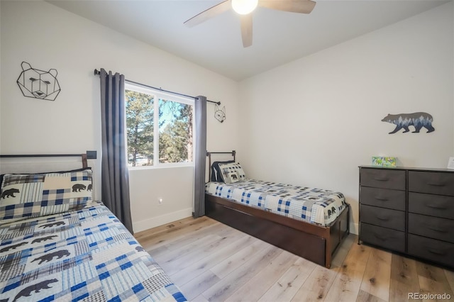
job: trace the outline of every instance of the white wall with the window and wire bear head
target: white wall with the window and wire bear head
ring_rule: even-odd
[[[100,157],[99,77],[93,70],[101,67],[131,81],[221,101],[227,111],[222,124],[208,106],[208,148],[238,147],[238,83],[233,80],[47,2],[0,5],[0,153],[97,150]],[[37,69],[57,69],[61,92],[55,101],[22,95],[16,80],[23,61]],[[99,184],[100,160],[91,164]],[[191,215],[192,168],[133,170],[130,179],[135,232]],[[175,186],[179,194],[170,194]],[[156,196],[164,199],[161,206]],[[99,185],[95,197],[101,198]]]

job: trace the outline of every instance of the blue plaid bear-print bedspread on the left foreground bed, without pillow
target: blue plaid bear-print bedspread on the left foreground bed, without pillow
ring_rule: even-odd
[[[186,301],[108,208],[0,225],[0,301]]]

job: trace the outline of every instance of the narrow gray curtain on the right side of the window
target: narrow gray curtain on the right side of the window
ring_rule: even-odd
[[[194,218],[205,215],[206,97],[195,100],[196,150],[194,155]]]

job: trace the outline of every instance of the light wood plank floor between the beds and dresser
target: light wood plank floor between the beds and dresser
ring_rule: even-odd
[[[135,237],[189,301],[414,301],[409,293],[446,293],[454,301],[454,272],[358,245],[355,235],[331,269],[208,217]]]

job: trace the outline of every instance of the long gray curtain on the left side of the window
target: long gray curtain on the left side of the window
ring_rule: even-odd
[[[133,233],[126,162],[125,77],[101,68],[102,200]]]

